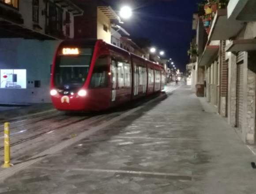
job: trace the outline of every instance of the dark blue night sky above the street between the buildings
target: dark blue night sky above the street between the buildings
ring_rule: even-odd
[[[105,0],[115,11],[131,5],[133,16],[122,25],[132,37],[147,37],[166,52],[181,71],[189,61],[187,50],[195,32],[192,14],[200,0]]]

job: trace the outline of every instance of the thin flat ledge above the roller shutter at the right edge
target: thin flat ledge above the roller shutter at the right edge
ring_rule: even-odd
[[[226,52],[253,51],[256,50],[256,39],[233,40],[226,46]]]

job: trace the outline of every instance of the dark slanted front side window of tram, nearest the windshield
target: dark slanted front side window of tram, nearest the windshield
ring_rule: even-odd
[[[93,75],[90,80],[90,88],[108,87],[108,57],[99,57],[95,63]]]

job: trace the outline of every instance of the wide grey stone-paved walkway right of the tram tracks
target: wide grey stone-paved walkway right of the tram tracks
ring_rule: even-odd
[[[255,194],[256,157],[188,86],[0,183],[0,194]],[[86,127],[86,126],[85,126]]]

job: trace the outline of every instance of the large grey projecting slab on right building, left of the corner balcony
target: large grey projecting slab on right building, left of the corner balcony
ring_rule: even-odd
[[[236,37],[242,30],[245,23],[237,20],[229,20],[227,18],[227,10],[219,9],[213,20],[211,31],[209,34],[210,41],[230,40]]]

